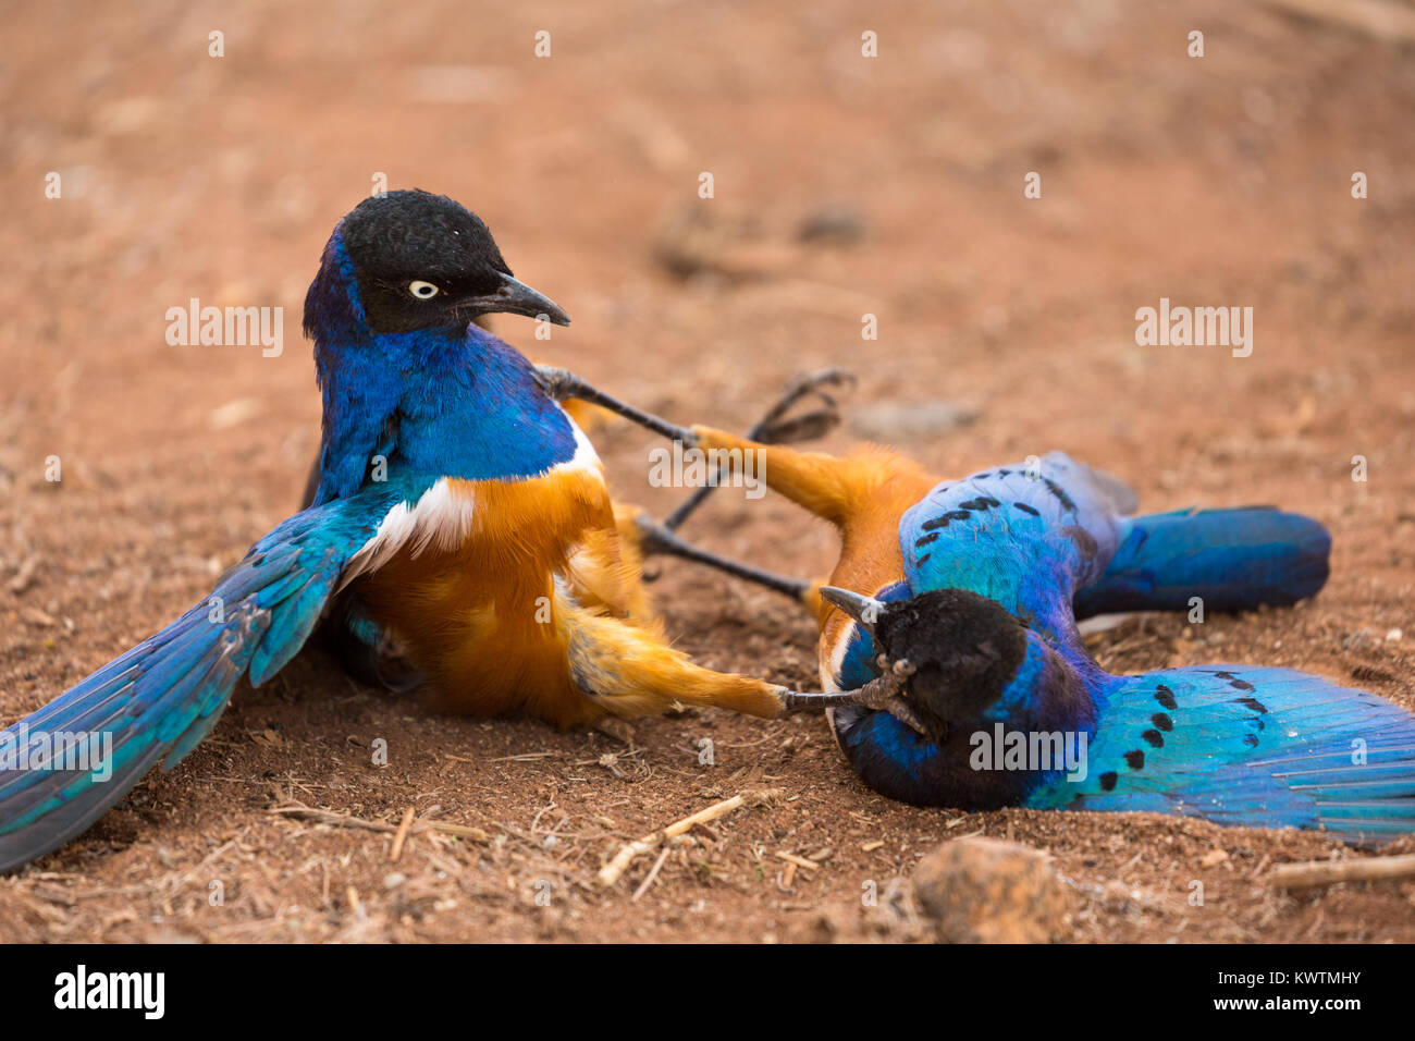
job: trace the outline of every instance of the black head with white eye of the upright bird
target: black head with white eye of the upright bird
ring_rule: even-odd
[[[549,297],[511,276],[481,218],[446,195],[365,198],[341,231],[375,333],[466,326],[492,312],[570,324]]]

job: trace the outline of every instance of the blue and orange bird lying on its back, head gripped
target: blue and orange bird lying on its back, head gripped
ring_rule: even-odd
[[[1241,610],[1312,596],[1330,551],[1317,521],[1266,507],[1129,516],[1125,484],[1061,453],[938,482],[887,450],[835,459],[693,432],[703,446],[760,452],[773,489],[839,528],[831,585],[791,591],[824,601],[824,687],[874,687],[873,704],[835,707],[831,725],[883,795],[1149,810],[1350,841],[1415,831],[1404,708],[1288,669],[1112,676],[1077,630],[1078,618],[1182,610],[1191,598]],[[998,736],[1016,749],[1013,734],[1040,756],[1005,762]],[[1085,741],[1084,776],[1063,765],[1057,738]]]

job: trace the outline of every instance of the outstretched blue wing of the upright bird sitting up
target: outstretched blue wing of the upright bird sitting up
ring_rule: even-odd
[[[371,484],[286,520],[207,601],[0,734],[0,871],[83,831],[154,763],[171,769],[242,676],[277,673],[402,500],[392,483]]]

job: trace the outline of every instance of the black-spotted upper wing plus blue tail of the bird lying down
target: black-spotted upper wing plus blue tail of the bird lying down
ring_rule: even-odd
[[[914,592],[969,589],[1051,636],[1068,613],[1208,610],[1293,603],[1327,578],[1332,538],[1310,517],[1269,507],[1125,517],[1116,479],[1053,452],[944,482],[904,514],[900,548]],[[1074,603],[1068,612],[1067,602]]]

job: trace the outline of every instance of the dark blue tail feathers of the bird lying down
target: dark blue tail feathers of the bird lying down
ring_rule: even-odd
[[[1118,610],[1251,610],[1315,595],[1332,537],[1310,517],[1271,507],[1133,517],[1099,581],[1075,596],[1077,618]]]

